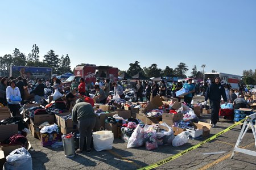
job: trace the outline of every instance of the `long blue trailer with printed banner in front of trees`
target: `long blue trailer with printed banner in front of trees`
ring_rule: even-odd
[[[27,67],[27,66],[11,66],[10,76],[17,78],[44,78],[49,79],[52,76],[52,68],[48,67]]]

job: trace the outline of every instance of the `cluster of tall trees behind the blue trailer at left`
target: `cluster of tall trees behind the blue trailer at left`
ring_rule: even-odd
[[[7,76],[10,74],[10,66],[51,67],[52,73],[58,75],[71,72],[71,61],[68,54],[65,57],[64,55],[59,57],[51,49],[43,56],[43,61],[39,61],[39,58],[39,47],[36,44],[32,46],[31,53],[28,53],[27,56],[15,48],[13,54],[0,56],[0,70],[2,75]]]

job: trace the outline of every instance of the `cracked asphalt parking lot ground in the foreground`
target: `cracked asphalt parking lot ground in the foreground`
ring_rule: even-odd
[[[209,118],[210,114],[203,114],[200,120],[209,122]],[[218,122],[217,128],[210,130],[210,136],[233,124],[232,121]],[[155,169],[256,169],[254,156],[236,153],[234,158],[230,159],[240,131],[241,127],[236,126],[201,147]],[[32,145],[30,153],[33,169],[139,169],[187,150],[207,138],[189,139],[183,146],[159,146],[151,151],[146,150],[144,146],[126,148],[126,142],[115,138],[112,150],[101,152],[93,150],[89,154],[76,154],[72,159],[65,157],[63,147],[42,147],[40,141],[32,135],[28,135],[28,139]],[[241,147],[256,151],[253,133],[250,131],[246,133]],[[222,152],[222,154],[204,155],[209,152]]]

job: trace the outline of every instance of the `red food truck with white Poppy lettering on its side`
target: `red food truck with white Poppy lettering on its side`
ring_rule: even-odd
[[[70,76],[65,82],[65,86],[70,86],[73,79],[79,83],[79,79],[82,77],[85,80],[86,85],[92,85],[96,82],[96,79],[109,78],[110,82],[117,81],[118,68],[112,66],[96,66],[87,64],[85,66],[75,67],[75,75]]]

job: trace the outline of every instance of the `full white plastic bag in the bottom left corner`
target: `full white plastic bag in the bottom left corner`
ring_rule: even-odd
[[[26,148],[21,147],[6,156],[6,163],[3,169],[26,169],[32,170],[32,158]]]

